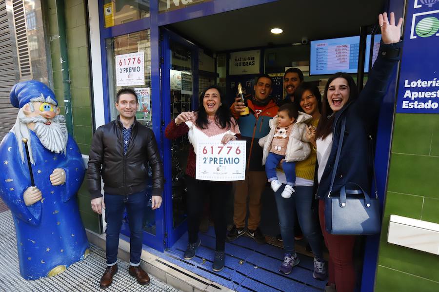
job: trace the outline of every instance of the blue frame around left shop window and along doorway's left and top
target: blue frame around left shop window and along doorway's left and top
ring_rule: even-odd
[[[164,127],[169,122],[170,112],[162,111],[164,101],[169,104],[169,70],[167,72],[167,80],[161,83],[160,74],[163,73],[160,58],[162,53],[165,52],[161,47],[160,39],[160,27],[162,25],[179,22],[183,20],[193,19],[194,15],[197,17],[208,16],[220,12],[226,12],[254,5],[274,2],[277,0],[211,0],[199,4],[194,4],[178,10],[159,13],[159,1],[150,1],[150,17],[144,19],[138,19],[127,23],[119,24],[106,28],[104,26],[103,16],[103,3],[104,0],[98,0],[99,7],[99,24],[100,24],[100,54],[102,60],[102,88],[103,88],[103,103],[104,103],[104,117],[105,123],[110,122],[110,98],[108,90],[108,65],[107,65],[107,53],[105,46],[105,39],[114,38],[117,36],[134,33],[146,29],[150,29],[150,41],[151,41],[151,100],[152,100],[152,122],[153,132],[157,137],[157,144],[162,152],[164,168],[165,168],[165,191],[163,193],[163,207],[155,211],[156,217],[156,235],[144,233],[143,243],[159,251],[163,251],[166,247],[171,246],[180,236],[184,233],[185,226],[180,225],[177,229],[172,227],[172,194],[170,189],[171,175],[170,175],[170,149],[169,141],[163,137]],[[164,32],[168,34],[169,38],[173,41],[180,42],[187,47],[194,48],[195,46],[179,36],[170,32]],[[168,42],[169,44],[169,42]],[[191,46],[192,45],[192,46]],[[169,50],[166,50],[166,52]],[[194,54],[197,56],[198,54]],[[169,60],[169,58],[163,58],[163,60]],[[194,61],[194,60],[193,60]],[[169,64],[168,64],[169,65]],[[195,66],[196,65],[196,66]],[[193,64],[193,68],[198,68],[197,63]],[[169,67],[167,67],[169,68]],[[193,74],[197,76],[198,72],[193,71]],[[195,81],[196,78],[194,78]],[[197,84],[198,85],[198,84]],[[162,87],[163,86],[163,87]],[[166,87],[167,86],[167,87]],[[165,90],[163,90],[165,89]],[[198,86],[193,88],[195,96],[198,96]],[[161,95],[161,92],[168,92],[168,95]],[[198,98],[195,98],[198,100]],[[195,106],[195,104],[193,105]],[[166,107],[165,107],[166,108]],[[167,116],[166,116],[167,115]],[[168,218],[168,216],[170,216]],[[129,236],[129,231],[126,226],[122,229],[122,232]]]

